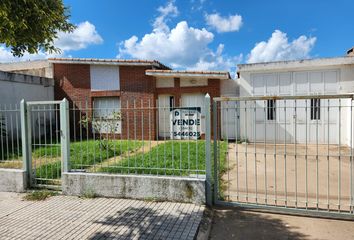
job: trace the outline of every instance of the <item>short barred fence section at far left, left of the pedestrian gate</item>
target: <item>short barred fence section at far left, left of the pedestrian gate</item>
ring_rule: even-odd
[[[0,168],[22,168],[19,104],[0,104]]]

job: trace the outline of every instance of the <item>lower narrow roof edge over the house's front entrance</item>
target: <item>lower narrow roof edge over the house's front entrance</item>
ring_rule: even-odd
[[[146,70],[146,75],[155,77],[195,77],[195,78],[216,78],[231,79],[227,71],[178,71],[178,70]]]

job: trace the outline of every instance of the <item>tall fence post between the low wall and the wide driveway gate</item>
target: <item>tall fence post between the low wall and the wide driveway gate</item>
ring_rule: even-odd
[[[211,120],[210,96],[205,95],[205,162],[206,162],[206,202],[212,205],[212,177],[211,177]]]

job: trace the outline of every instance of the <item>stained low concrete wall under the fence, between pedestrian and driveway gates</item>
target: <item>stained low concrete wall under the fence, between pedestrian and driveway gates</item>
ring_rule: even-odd
[[[66,195],[95,194],[205,204],[205,179],[200,178],[71,172],[63,174],[62,186]]]

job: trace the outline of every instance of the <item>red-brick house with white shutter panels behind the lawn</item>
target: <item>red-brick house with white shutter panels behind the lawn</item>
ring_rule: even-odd
[[[73,133],[78,133],[82,115],[100,119],[120,111],[115,133],[123,139],[171,138],[171,112],[182,107],[199,114],[202,137],[205,94],[213,98],[237,92],[228,72],[175,71],[158,61],[50,58],[0,64],[0,69],[52,77],[55,99],[67,98],[76,113],[71,116]]]

